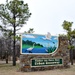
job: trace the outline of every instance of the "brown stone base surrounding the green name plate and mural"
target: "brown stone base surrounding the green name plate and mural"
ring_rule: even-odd
[[[43,66],[32,66],[33,59],[59,59],[62,58],[61,65],[43,65]],[[20,55],[20,70],[25,72],[30,71],[44,71],[52,70],[56,68],[68,68],[69,64],[69,49],[68,49],[68,40],[65,37],[59,38],[59,47],[58,50],[53,54],[48,55]]]

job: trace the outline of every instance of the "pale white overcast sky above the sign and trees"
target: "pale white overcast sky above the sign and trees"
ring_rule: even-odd
[[[0,3],[5,3],[1,0]],[[35,34],[65,34],[62,27],[64,20],[73,22],[75,28],[75,0],[23,0],[28,3],[32,13],[27,24],[18,33],[34,28]]]

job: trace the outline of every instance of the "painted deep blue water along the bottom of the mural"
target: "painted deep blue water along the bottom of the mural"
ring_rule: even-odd
[[[22,53],[47,53],[47,48],[34,48],[31,51],[27,51],[27,48],[22,49]]]

